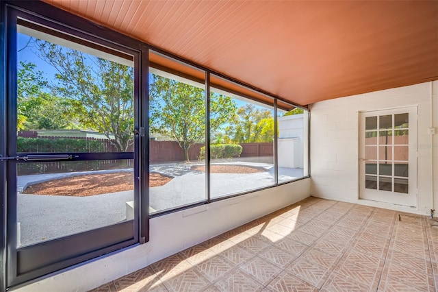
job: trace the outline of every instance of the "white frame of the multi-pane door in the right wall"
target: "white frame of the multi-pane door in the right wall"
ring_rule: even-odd
[[[372,190],[375,194],[372,197],[366,197],[365,195],[365,161],[361,160],[365,158],[365,117],[369,114],[370,117],[379,116],[383,114],[398,114],[398,113],[409,113],[409,193],[395,193],[394,191],[380,191],[380,195],[388,195],[391,194],[389,199],[376,199],[378,194],[378,190]],[[368,200],[374,201],[384,204],[394,204],[399,206],[405,206],[410,208],[418,208],[418,175],[417,175],[417,123],[418,123],[418,106],[403,106],[396,108],[384,108],[379,110],[363,110],[358,112],[358,199],[360,200]],[[376,130],[378,131],[378,130]],[[394,177],[394,173],[392,175]],[[413,183],[411,183],[413,181]],[[385,192],[385,193],[382,193]],[[391,202],[391,199],[397,199],[394,196],[398,195],[409,195],[411,196],[409,199],[405,199],[405,202],[409,203],[398,203]]]

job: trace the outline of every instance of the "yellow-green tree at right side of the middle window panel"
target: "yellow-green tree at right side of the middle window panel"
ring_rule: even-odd
[[[227,127],[226,134],[234,143],[272,142],[274,137],[272,111],[246,104],[237,110],[235,119]]]

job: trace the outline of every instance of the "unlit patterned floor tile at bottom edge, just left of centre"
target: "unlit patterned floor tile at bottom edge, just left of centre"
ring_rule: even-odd
[[[203,291],[211,284],[195,268],[163,281],[168,291]]]

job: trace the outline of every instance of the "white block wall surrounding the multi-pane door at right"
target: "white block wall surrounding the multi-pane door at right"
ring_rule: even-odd
[[[428,213],[434,200],[438,210],[438,135],[428,134],[438,127],[437,93],[438,82],[426,82],[311,105],[311,195],[419,213]],[[359,199],[359,111],[405,106],[418,107],[417,142],[411,143],[419,146],[416,210]]]

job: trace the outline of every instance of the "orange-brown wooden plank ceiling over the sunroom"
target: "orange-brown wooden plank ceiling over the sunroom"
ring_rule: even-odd
[[[438,80],[438,1],[45,1],[300,105]]]

